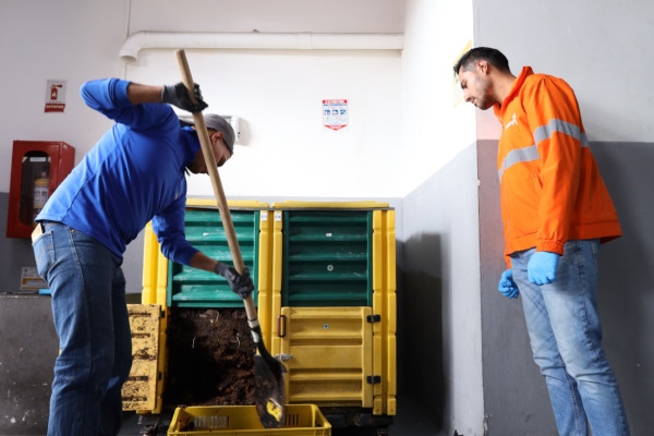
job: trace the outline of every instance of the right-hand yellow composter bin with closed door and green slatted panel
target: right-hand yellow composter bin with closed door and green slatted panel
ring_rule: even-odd
[[[282,202],[275,209],[272,353],[290,403],[332,423],[396,414],[395,210],[386,203]]]

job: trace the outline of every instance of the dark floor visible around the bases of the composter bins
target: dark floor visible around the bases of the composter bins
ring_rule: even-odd
[[[421,410],[415,401],[403,399],[398,401],[398,414],[393,424],[388,427],[389,436],[446,436],[440,433],[434,423],[434,419]],[[142,436],[141,431],[148,423],[140,423],[140,416],[128,414],[120,436]],[[157,435],[165,435],[167,424],[162,424]],[[219,434],[219,433],[218,433]],[[371,428],[332,428],[332,436],[375,436]],[[451,436],[451,435],[449,435]]]

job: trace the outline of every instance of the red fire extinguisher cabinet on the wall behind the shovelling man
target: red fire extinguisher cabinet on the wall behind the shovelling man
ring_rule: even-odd
[[[34,218],[73,170],[75,148],[50,141],[14,141],[7,238],[29,238]]]

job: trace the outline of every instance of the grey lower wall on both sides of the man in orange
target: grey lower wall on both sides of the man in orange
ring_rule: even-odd
[[[654,144],[592,143],[591,148],[620,217],[623,237],[603,245],[598,290],[604,348],[616,373],[631,431],[654,427],[652,269]],[[484,403],[488,435],[556,434],[545,383],[531,356],[520,301],[497,292],[506,269],[497,181],[497,142],[477,143]]]

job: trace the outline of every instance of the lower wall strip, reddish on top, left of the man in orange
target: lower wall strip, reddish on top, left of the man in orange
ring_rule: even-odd
[[[488,434],[556,434],[547,388],[532,359],[522,303],[497,291],[499,276],[507,269],[497,141],[477,142],[477,159],[484,405]]]

